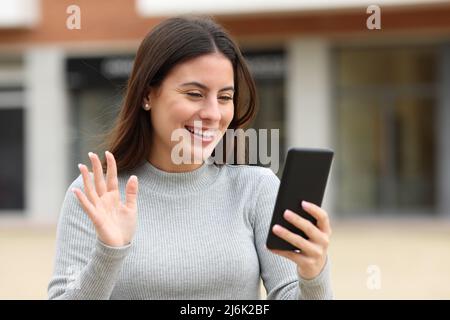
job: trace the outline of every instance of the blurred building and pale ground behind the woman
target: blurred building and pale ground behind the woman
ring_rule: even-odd
[[[336,298],[449,299],[450,1],[431,0],[0,0],[0,299],[46,299],[76,165],[103,153],[140,41],[188,12],[239,43],[280,163],[335,150]]]

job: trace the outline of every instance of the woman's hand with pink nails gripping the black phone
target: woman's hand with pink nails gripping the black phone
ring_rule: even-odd
[[[331,226],[327,212],[319,206],[303,201],[302,207],[306,212],[316,218],[317,226],[290,210],[284,212],[284,218],[293,226],[302,230],[309,237],[309,240],[306,240],[280,225],[275,225],[272,229],[275,235],[289,242],[301,250],[301,252],[298,253],[295,251],[275,249],[269,250],[295,262],[300,277],[310,280],[320,274],[327,261]]]

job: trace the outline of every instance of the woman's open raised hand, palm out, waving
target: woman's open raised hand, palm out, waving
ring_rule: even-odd
[[[83,210],[94,224],[98,239],[107,246],[120,247],[131,242],[136,230],[138,180],[131,176],[125,187],[122,203],[117,180],[116,160],[106,151],[106,182],[98,156],[89,152],[94,173],[94,185],[87,166],[79,164],[85,193],[73,188]]]

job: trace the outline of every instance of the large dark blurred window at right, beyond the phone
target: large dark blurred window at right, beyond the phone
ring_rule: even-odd
[[[339,211],[434,212],[436,50],[336,51]]]

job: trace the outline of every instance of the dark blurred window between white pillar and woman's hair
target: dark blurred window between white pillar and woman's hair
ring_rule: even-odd
[[[133,60],[131,55],[67,60],[72,119],[70,181],[80,174],[78,163],[90,166],[89,151],[103,156],[104,150],[98,150],[101,138],[120,111]]]

